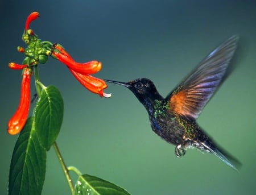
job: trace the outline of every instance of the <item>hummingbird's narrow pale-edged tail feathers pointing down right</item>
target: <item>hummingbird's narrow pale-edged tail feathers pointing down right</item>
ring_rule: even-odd
[[[211,153],[213,153],[215,156],[217,156],[220,160],[222,160],[225,164],[227,164],[229,167],[233,168],[234,170],[236,170],[238,172],[238,168],[240,168],[242,164],[235,157],[229,155],[228,153],[226,153],[224,151],[218,150],[210,142],[202,142],[201,144],[207,150],[209,150]],[[236,164],[238,168],[234,164]]]

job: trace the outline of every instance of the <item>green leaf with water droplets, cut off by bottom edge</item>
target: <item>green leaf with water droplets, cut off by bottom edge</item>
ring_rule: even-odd
[[[79,176],[76,181],[75,194],[127,195],[129,193],[112,182],[85,174]]]

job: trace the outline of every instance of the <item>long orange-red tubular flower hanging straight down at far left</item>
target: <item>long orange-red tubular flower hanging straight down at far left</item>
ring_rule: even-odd
[[[32,75],[31,69],[24,68],[23,76],[22,76],[19,106],[7,125],[8,126],[7,132],[10,135],[18,134],[22,130],[22,128],[24,127],[27,121],[28,111],[30,108],[30,77],[31,75]]]

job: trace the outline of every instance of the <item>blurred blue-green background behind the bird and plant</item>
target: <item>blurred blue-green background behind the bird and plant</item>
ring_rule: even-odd
[[[63,95],[64,121],[57,143],[67,165],[121,185],[131,194],[256,193],[255,1],[45,0],[0,2],[0,194],[7,192],[18,137],[7,134],[6,124],[18,106],[20,71],[7,65],[22,62],[16,47],[24,46],[24,22],[32,11],[40,18],[30,27],[42,40],[62,44],[77,61],[102,61],[97,77],[147,77],[163,96],[218,44],[240,35],[236,69],[198,119],[220,146],[241,160],[240,173],[196,150],[177,159],[175,147],[154,134],[146,110],[122,86],[110,84],[105,92],[112,98],[100,98],[53,59],[40,66],[40,78]],[[34,85],[31,88],[35,92]],[[43,194],[70,194],[52,149],[47,153]]]

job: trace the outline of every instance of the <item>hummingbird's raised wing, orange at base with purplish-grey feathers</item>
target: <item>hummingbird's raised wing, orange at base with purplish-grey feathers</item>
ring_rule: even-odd
[[[238,36],[232,36],[212,51],[166,99],[170,109],[196,119],[212,97],[226,73],[237,47]]]

